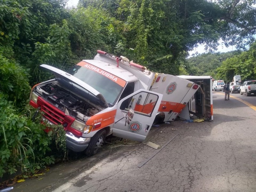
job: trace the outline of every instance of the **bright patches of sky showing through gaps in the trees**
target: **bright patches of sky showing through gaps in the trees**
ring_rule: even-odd
[[[79,0],[68,0],[68,7],[73,7],[76,6],[78,4]],[[219,41],[220,45],[218,46],[217,51],[215,52],[229,52],[229,51],[235,51],[236,48],[234,46],[230,46],[230,47],[226,47],[224,44],[222,45],[221,40]],[[206,51],[204,50],[204,44],[198,44],[198,47],[194,48],[193,51],[188,52],[189,53],[189,57],[193,56],[193,54],[195,53],[206,53]]]

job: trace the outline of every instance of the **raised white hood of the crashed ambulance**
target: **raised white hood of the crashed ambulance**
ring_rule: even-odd
[[[70,82],[91,92],[96,98],[98,98],[103,103],[104,107],[108,107],[108,103],[105,100],[105,98],[103,97],[103,95],[100,92],[98,92],[96,89],[94,89],[92,86],[84,83],[82,80],[80,80],[80,79],[76,78],[75,76],[72,76],[69,73],[62,71],[58,68],[52,67],[50,65],[45,65],[45,64],[42,64],[40,66],[50,70],[56,77],[68,79]]]

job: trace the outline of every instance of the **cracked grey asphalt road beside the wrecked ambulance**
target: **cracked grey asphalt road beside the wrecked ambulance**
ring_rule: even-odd
[[[103,148],[17,183],[12,192],[255,192],[256,112],[234,98],[224,101],[222,92],[213,93],[213,108],[212,122],[152,128],[145,143],[161,149],[136,142]]]

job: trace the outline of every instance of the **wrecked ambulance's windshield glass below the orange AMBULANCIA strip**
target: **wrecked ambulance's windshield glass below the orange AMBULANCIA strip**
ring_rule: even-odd
[[[94,89],[100,92],[108,102],[109,106],[113,106],[115,104],[118,95],[123,89],[122,86],[108,77],[78,65],[69,69],[68,73],[84,81],[86,84],[92,86]]]

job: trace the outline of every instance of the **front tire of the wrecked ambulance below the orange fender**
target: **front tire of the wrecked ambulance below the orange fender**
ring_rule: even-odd
[[[85,155],[93,156],[102,147],[106,138],[106,130],[98,131],[91,139],[88,147],[85,149]]]

